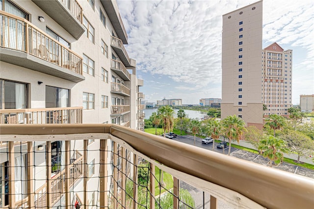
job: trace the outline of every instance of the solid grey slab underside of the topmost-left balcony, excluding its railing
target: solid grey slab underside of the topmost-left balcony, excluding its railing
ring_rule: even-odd
[[[59,0],[32,0],[55,22],[68,31],[75,39],[84,33],[84,26]],[[42,14],[38,14],[42,16]],[[45,17],[45,16],[44,16]]]

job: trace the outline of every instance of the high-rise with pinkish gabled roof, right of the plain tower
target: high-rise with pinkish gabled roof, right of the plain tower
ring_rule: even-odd
[[[262,103],[264,115],[288,117],[292,106],[292,50],[273,43],[262,50]]]

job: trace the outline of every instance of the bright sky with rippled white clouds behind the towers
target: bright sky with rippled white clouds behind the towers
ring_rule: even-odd
[[[145,100],[221,98],[222,15],[257,0],[118,0]],[[314,0],[263,0],[263,48],[293,50],[292,103],[314,94]],[[262,56],[262,55],[261,55]]]

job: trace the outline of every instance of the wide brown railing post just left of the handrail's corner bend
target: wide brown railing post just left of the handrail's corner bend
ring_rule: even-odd
[[[107,177],[107,152],[106,152],[106,147],[107,147],[107,140],[106,139],[101,139],[100,140],[100,172],[99,172],[99,178],[100,178],[100,194],[99,194],[99,199],[100,199],[100,208],[107,208],[108,203],[107,203],[107,198],[108,198],[108,193],[107,193],[107,182],[108,182],[108,177]]]

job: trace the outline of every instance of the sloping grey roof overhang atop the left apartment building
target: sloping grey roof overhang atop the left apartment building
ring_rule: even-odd
[[[115,0],[100,0],[103,4],[109,20],[116,31],[118,37],[122,40],[123,44],[128,44],[128,34],[123,25],[119,8]]]

